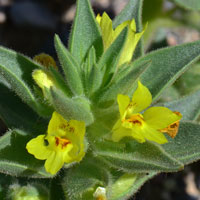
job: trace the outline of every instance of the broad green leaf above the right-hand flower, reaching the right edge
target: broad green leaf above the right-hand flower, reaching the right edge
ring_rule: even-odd
[[[200,41],[196,41],[154,51],[135,63],[151,60],[151,65],[139,79],[149,88],[155,101],[199,57]]]

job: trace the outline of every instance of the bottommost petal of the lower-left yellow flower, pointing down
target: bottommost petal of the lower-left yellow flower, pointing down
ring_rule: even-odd
[[[63,154],[61,152],[52,151],[44,166],[47,172],[54,175],[62,168],[63,164]]]

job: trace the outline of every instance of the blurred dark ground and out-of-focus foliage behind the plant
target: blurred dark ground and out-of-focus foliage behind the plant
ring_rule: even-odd
[[[95,13],[114,18],[128,0],[91,0]],[[198,3],[199,2],[199,3]],[[67,45],[75,0],[0,0],[0,45],[29,57],[47,53],[56,59],[57,33]],[[200,0],[144,0],[145,51],[200,39]],[[195,63],[160,98],[171,101],[200,89],[200,62]],[[0,126],[0,133],[6,127]],[[134,200],[200,200],[200,162],[175,174],[147,182]]]

